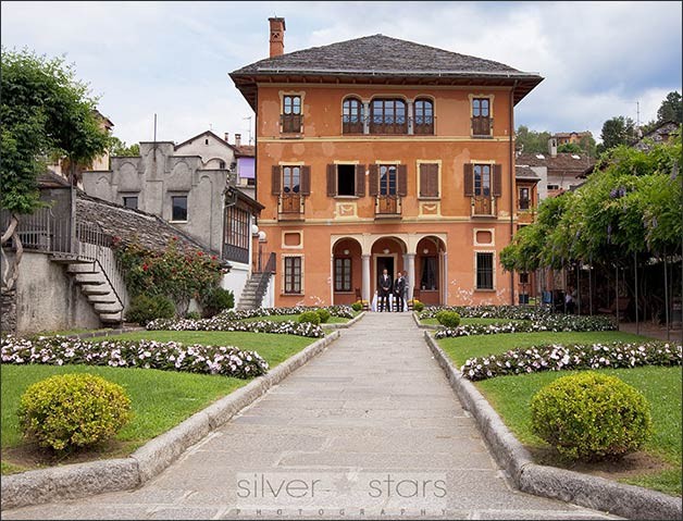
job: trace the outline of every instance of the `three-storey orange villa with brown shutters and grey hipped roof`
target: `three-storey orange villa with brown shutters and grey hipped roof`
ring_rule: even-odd
[[[543,78],[383,35],[285,54],[284,18],[270,30],[231,77],[257,114],[274,303],[372,300],[385,268],[425,303],[513,303],[513,108]]]

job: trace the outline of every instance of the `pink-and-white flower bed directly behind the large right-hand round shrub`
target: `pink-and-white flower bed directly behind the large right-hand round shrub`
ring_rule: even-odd
[[[460,369],[472,381],[508,374],[539,371],[568,371],[604,368],[635,368],[638,365],[681,365],[680,345],[651,340],[642,344],[546,345],[512,349],[502,355],[470,358]]]

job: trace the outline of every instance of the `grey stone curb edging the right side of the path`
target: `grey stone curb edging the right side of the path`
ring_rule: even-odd
[[[681,498],[571,470],[536,464],[482,394],[424,332],[427,346],[446,373],[462,406],[474,417],[496,461],[514,485],[536,496],[561,499],[628,519],[682,519]]]

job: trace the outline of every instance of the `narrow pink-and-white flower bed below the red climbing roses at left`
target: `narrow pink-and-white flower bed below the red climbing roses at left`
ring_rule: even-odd
[[[320,325],[299,324],[293,320],[285,322],[240,322],[221,313],[211,319],[158,319],[147,324],[148,331],[244,331],[250,333],[273,333],[277,335],[298,335],[320,338],[325,336]]]

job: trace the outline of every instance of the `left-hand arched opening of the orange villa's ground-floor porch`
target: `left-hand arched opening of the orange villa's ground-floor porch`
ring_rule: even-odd
[[[351,305],[362,290],[361,246],[345,237],[332,248],[332,290],[335,306]]]

